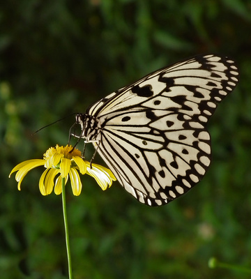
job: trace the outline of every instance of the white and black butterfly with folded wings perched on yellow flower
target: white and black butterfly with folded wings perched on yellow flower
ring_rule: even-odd
[[[211,163],[206,123],[237,82],[238,68],[228,57],[195,56],[146,75],[77,114],[80,137],[93,143],[139,202],[167,204],[206,173]]]

